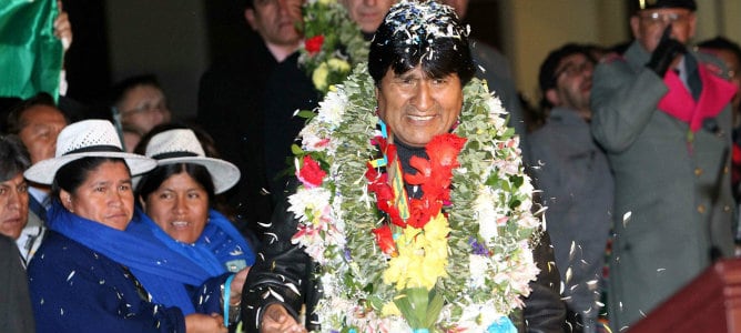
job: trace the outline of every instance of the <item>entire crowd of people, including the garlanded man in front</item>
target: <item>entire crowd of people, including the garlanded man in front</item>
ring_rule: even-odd
[[[639,2],[632,41],[544,54],[537,112],[468,0],[314,4],[351,31],[246,0],[192,121],[152,74],[90,114],[3,97],[0,327],[630,327],[741,252],[741,49],[690,44],[693,0]]]

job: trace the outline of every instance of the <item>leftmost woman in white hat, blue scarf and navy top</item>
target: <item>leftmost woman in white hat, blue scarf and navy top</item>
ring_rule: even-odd
[[[219,282],[153,234],[128,231],[141,214],[131,176],[155,165],[123,152],[110,122],[87,120],[24,172],[52,185],[51,231],[28,270],[38,332],[226,332],[221,315],[202,314],[221,306]]]

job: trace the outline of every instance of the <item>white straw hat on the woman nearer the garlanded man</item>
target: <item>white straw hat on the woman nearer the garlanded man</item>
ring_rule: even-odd
[[[145,154],[156,160],[158,165],[193,163],[205,167],[214,182],[215,194],[240,181],[240,169],[227,161],[206,158],[201,142],[189,129],[164,131],[152,137]]]

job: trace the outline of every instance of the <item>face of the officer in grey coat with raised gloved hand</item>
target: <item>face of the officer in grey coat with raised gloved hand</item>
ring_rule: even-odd
[[[648,52],[653,52],[667,26],[671,24],[671,38],[687,44],[694,36],[697,17],[689,9],[662,8],[642,10],[630,18],[633,37]]]

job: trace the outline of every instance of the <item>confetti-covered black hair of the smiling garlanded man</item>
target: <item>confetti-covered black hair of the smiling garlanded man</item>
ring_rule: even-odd
[[[399,2],[376,30],[368,54],[368,72],[376,85],[388,69],[402,74],[418,64],[432,78],[456,73],[463,85],[474,77],[468,29],[450,7]]]

